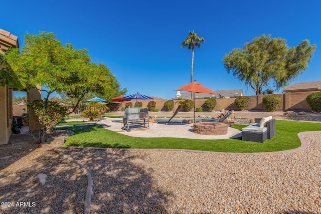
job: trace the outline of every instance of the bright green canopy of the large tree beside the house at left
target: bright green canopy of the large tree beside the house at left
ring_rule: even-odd
[[[63,46],[54,33],[24,37],[22,52],[10,49],[1,59],[5,67],[0,70],[0,85],[27,90],[46,86],[47,100],[54,91],[64,92],[77,99],[76,107],[89,92],[107,95],[126,91],[108,67],[92,63],[87,49],[74,49],[70,43]]]

